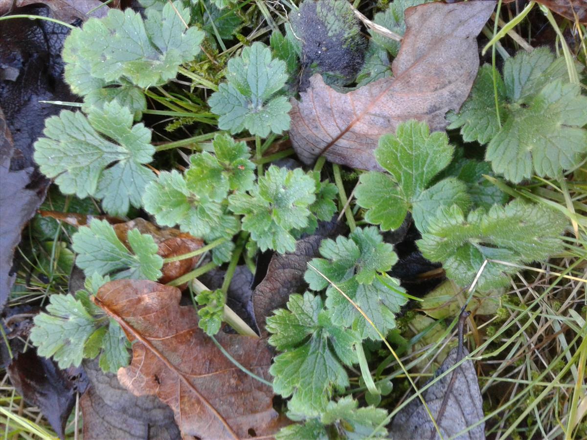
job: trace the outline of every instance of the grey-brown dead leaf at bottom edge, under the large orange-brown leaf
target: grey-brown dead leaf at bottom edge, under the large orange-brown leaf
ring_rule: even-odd
[[[173,411],[155,396],[132,394],[115,374],[104,374],[96,359],[84,361],[83,367],[90,383],[80,400],[84,439],[181,438]]]

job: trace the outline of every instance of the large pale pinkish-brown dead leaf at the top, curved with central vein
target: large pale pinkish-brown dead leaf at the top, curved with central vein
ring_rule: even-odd
[[[380,170],[373,150],[384,133],[410,119],[444,130],[448,110],[467,98],[479,67],[475,37],[495,1],[429,3],[406,10],[407,30],[393,62],[393,77],[339,93],[319,75],[291,100],[294,150],[306,164],[319,155],[337,164]],[[425,29],[425,31],[424,31]]]

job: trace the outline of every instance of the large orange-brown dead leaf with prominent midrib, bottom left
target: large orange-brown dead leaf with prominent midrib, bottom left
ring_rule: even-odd
[[[198,328],[191,306],[180,307],[176,287],[116,280],[95,302],[124,329],[133,360],[118,379],[135,395],[154,394],[175,414],[183,436],[247,438],[271,435],[279,422],[271,387],[239,370]],[[218,342],[249,371],[270,380],[265,342],[218,334]]]

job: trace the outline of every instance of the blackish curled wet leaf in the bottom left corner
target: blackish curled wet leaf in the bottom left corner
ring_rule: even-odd
[[[16,354],[7,370],[16,392],[39,407],[57,435],[65,438],[65,424],[76,394],[83,394],[87,387],[83,368],[60,370],[53,360],[37,356],[36,349],[29,347],[25,353]]]

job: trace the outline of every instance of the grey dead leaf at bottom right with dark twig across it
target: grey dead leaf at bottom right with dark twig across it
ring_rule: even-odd
[[[453,348],[446,360],[438,368],[436,376],[444,373],[457,363],[457,348]],[[463,356],[468,351],[463,348]],[[453,374],[456,377],[453,379]],[[433,379],[434,380],[434,379]],[[451,381],[453,382],[452,384]],[[450,386],[449,386],[450,384]],[[445,395],[448,393],[447,398]],[[430,408],[442,434],[442,438],[454,438],[456,434],[483,419],[483,400],[477,381],[473,361],[466,360],[459,367],[437,380],[423,393],[424,400]],[[442,409],[444,407],[444,409]],[[485,422],[481,422],[458,439],[484,439]],[[393,439],[438,439],[426,408],[416,398],[406,405],[393,419],[391,437]]]

